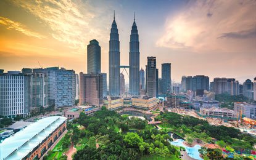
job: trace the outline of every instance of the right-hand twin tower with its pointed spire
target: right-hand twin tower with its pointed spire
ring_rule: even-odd
[[[139,34],[135,23],[135,14],[130,35],[129,65],[129,92],[131,95],[139,95]]]

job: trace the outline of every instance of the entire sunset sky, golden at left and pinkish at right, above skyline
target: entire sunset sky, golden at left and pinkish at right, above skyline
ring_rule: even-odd
[[[147,56],[155,56],[159,71],[161,63],[171,63],[175,82],[196,74],[210,80],[236,78],[240,83],[256,76],[256,1],[236,0],[1,0],[0,68],[39,68],[39,61],[43,68],[61,66],[86,73],[86,46],[97,39],[101,70],[109,74],[114,10],[121,65],[129,63],[135,12],[142,68]]]

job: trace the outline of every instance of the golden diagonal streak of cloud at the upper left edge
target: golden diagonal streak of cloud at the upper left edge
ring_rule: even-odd
[[[27,27],[25,25],[23,25],[22,23],[14,22],[14,21],[10,20],[9,18],[0,17],[0,25],[6,26],[8,30],[20,31],[21,33],[23,33],[27,36],[30,36],[30,37],[35,37],[35,38],[39,38],[39,39],[46,38],[46,36],[44,36],[42,34],[28,30]]]

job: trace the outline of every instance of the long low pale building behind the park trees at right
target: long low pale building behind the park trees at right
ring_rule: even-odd
[[[218,118],[236,118],[237,113],[228,108],[200,108],[202,116],[213,116]]]

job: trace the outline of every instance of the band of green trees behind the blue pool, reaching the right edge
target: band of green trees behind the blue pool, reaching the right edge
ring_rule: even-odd
[[[213,126],[207,121],[192,116],[182,116],[170,112],[163,113],[158,119],[163,122],[162,126],[170,127],[186,136],[188,142],[194,138],[199,138],[208,143],[212,142],[212,138],[215,138],[231,145],[235,150],[252,150],[256,144],[256,138],[249,134],[242,134],[240,130],[234,127]]]

